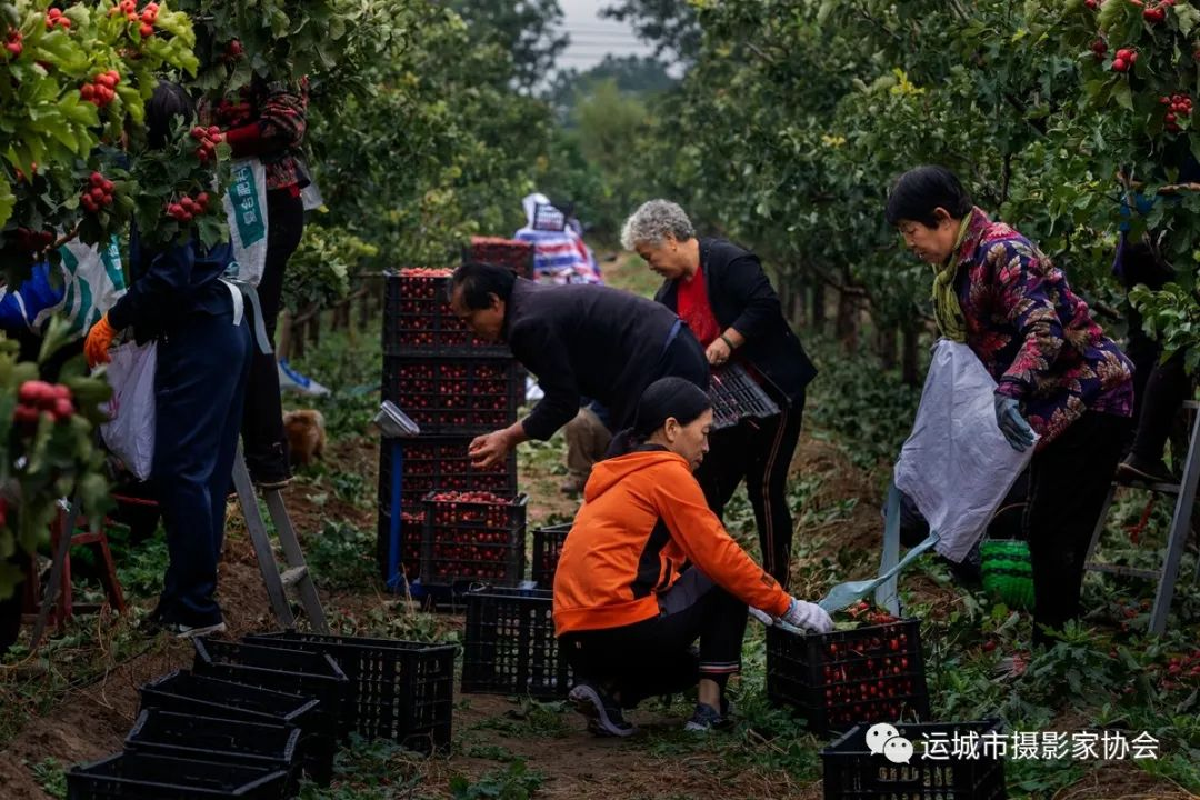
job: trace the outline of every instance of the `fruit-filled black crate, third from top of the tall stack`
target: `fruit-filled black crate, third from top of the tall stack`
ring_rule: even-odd
[[[430,492],[494,492],[517,493],[517,455],[490,469],[470,465],[467,447],[474,437],[419,437],[402,440],[403,480],[401,500],[408,509]],[[391,446],[384,439],[379,447],[379,503],[391,509]]]

